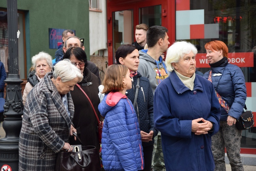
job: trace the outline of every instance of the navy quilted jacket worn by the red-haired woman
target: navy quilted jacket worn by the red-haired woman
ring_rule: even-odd
[[[247,96],[243,72],[238,66],[228,63],[228,60],[211,69],[214,88],[230,108],[227,113],[221,106],[221,120],[227,120],[228,115],[239,119]],[[209,73],[206,72],[203,77],[208,79]]]

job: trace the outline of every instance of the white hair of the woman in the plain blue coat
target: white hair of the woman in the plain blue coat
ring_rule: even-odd
[[[193,52],[194,55],[197,54],[197,48],[194,44],[187,41],[174,42],[168,49],[166,54],[166,68],[168,71],[172,72],[174,67],[172,63],[179,62],[186,54]]]

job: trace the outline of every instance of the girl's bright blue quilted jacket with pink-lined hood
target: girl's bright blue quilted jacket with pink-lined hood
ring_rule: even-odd
[[[105,117],[101,139],[104,170],[142,170],[140,128],[131,101],[119,92],[110,92],[98,109]]]

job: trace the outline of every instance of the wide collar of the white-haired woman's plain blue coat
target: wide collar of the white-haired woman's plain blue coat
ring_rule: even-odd
[[[171,80],[172,86],[174,87],[174,89],[176,90],[177,93],[182,94],[183,92],[185,92],[187,90],[190,91],[190,89],[182,83],[182,81],[179,79],[179,77],[174,72],[174,70],[171,72],[169,78]],[[203,86],[200,83],[200,81],[198,80],[198,75],[196,75],[196,78],[194,81],[194,90],[203,91]]]

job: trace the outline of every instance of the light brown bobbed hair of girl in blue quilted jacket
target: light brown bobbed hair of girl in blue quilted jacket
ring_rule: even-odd
[[[126,76],[128,70],[125,65],[114,64],[109,66],[105,71],[102,93],[107,94],[111,91],[117,92],[125,89],[126,85],[123,83],[123,77]]]

